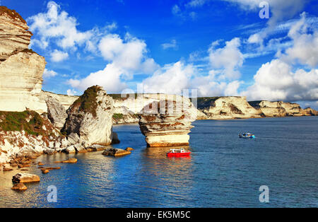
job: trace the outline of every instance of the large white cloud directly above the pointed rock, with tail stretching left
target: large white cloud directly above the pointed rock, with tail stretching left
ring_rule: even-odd
[[[111,92],[120,93],[127,88],[124,80],[131,80],[134,74],[150,74],[158,69],[158,64],[147,57],[146,43],[127,34],[105,35],[98,44],[102,57],[108,62],[105,69],[93,72],[86,78],[70,79],[73,88],[85,90],[89,86],[100,85]]]

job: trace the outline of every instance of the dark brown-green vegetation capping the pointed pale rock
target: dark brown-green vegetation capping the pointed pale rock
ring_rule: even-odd
[[[83,95],[81,95],[74,103],[71,105],[71,110],[77,109],[81,112],[89,112],[96,117],[96,109],[98,107],[98,103],[96,101],[96,97],[98,96],[98,92],[102,90],[99,86],[91,86]]]

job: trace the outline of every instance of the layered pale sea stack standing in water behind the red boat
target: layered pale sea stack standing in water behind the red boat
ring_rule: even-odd
[[[177,97],[181,98],[181,97]],[[160,100],[143,107],[139,127],[146,136],[147,145],[186,146],[189,145],[192,122],[196,119],[192,103],[187,98]]]

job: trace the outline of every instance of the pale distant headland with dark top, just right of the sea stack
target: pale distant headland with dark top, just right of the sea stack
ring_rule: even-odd
[[[208,119],[264,117],[264,114],[260,110],[256,110],[247,103],[245,97],[199,98],[198,106]]]

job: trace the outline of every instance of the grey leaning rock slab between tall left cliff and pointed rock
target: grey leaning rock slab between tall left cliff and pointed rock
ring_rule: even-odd
[[[48,96],[45,102],[47,103],[47,117],[53,126],[58,129],[63,128],[67,117],[64,106],[59,103],[59,100],[52,96]]]

